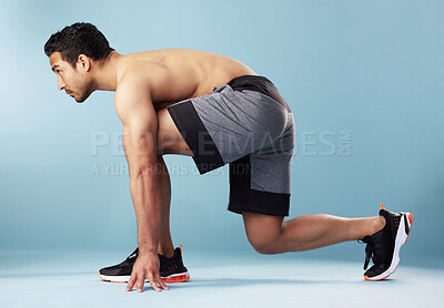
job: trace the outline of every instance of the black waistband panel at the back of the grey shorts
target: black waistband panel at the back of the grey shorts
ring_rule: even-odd
[[[279,93],[276,86],[265,76],[242,75],[231,80],[228,84],[234,91],[251,90],[265,94],[291,112],[290,106],[286,104],[284,97],[282,97],[281,93]]]

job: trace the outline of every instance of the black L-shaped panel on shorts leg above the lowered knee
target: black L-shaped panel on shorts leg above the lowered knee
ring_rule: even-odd
[[[289,216],[290,194],[261,192],[251,188],[250,155],[230,163],[229,211],[252,212],[271,216]]]

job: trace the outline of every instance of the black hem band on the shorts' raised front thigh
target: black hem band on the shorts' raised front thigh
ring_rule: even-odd
[[[200,174],[224,165],[212,137],[199,117],[191,100],[167,107],[188,146]]]

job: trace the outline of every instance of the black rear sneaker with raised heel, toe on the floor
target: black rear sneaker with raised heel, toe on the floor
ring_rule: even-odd
[[[362,239],[367,244],[364,269],[367,269],[370,258],[373,260],[373,266],[364,273],[365,280],[371,281],[385,279],[396,270],[401,246],[407,242],[413,223],[412,214],[392,213],[383,204],[380,215],[385,218],[384,228]]]

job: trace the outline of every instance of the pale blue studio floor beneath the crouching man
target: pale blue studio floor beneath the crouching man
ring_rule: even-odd
[[[0,307],[442,307],[444,269],[400,265],[369,283],[362,263],[186,251],[191,279],[170,290],[124,290],[98,268],[122,250],[0,253]]]

